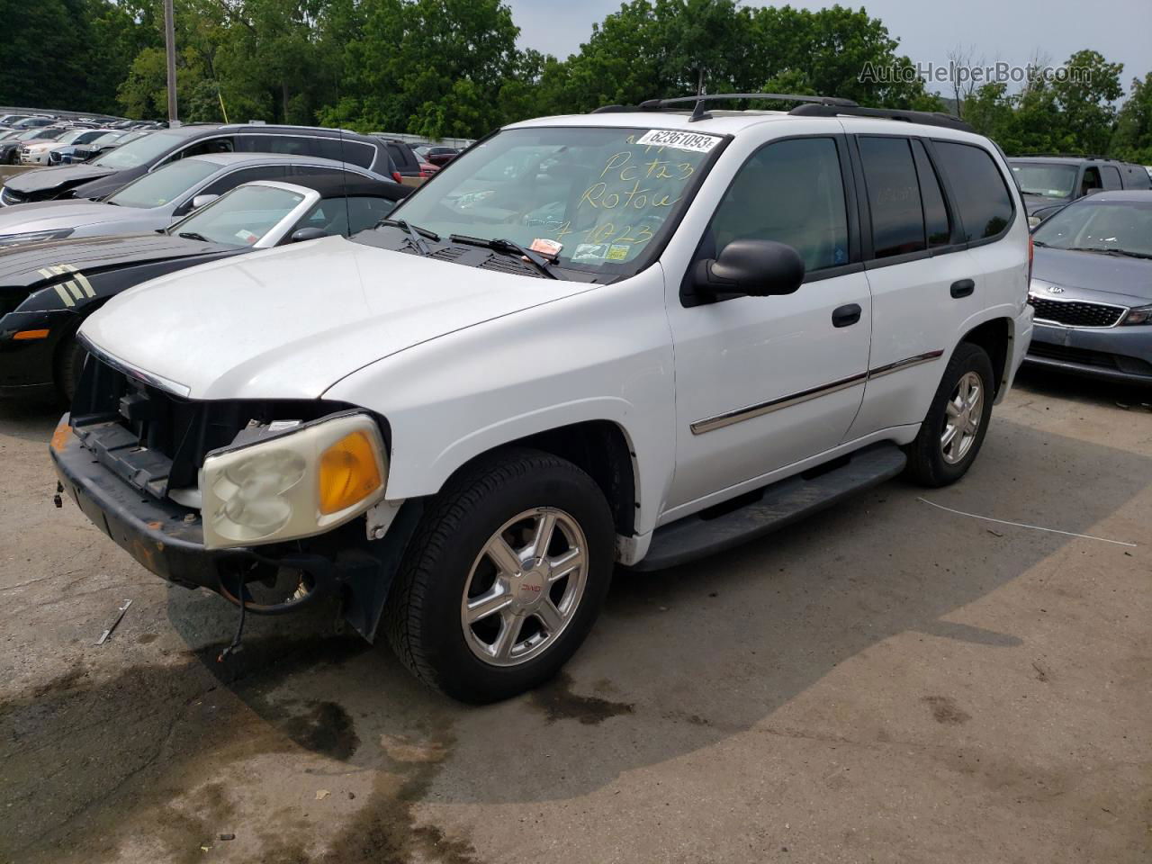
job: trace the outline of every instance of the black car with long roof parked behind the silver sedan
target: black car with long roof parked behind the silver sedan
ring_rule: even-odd
[[[306,126],[194,123],[161,129],[83,165],[43,168],[5,183],[0,204],[51,198],[103,198],[159,165],[202,153],[290,153],[336,159],[391,176],[384,143],[341,129]]]

